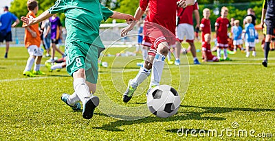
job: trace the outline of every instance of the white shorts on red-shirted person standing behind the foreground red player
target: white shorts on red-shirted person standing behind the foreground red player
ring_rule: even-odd
[[[176,38],[179,39],[180,42],[184,40],[184,36],[186,36],[186,41],[194,40],[194,27],[193,25],[189,25],[188,23],[180,23],[176,27]]]

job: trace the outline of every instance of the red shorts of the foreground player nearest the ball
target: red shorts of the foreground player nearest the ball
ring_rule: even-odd
[[[168,28],[158,25],[157,23],[145,22],[144,38],[151,42],[151,49],[148,51],[148,55],[155,55],[157,47],[161,42],[168,42],[168,45],[175,44],[176,37],[175,31],[170,31]]]

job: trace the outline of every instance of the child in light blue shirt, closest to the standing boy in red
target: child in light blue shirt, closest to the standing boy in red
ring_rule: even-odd
[[[243,39],[241,38],[241,34],[243,29],[240,26],[240,21],[235,20],[234,26],[232,28],[232,38],[233,38],[233,45],[234,45],[234,53],[236,53],[236,47],[243,51]]]

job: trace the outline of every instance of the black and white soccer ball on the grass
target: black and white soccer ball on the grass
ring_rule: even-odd
[[[177,90],[168,85],[156,86],[147,95],[148,110],[161,118],[176,114],[180,103]]]

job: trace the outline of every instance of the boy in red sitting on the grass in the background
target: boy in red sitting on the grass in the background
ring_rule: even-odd
[[[201,47],[203,62],[218,62],[219,59],[215,55],[212,55],[211,53],[210,34],[205,34],[203,38],[204,38],[204,41],[202,42],[202,47]]]

